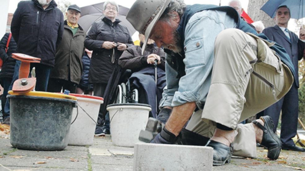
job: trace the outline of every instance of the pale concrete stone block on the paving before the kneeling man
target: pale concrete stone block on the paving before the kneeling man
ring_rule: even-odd
[[[212,170],[213,148],[190,145],[136,143],[135,171]]]

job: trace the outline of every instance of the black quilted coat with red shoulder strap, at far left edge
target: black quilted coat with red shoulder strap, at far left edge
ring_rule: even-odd
[[[13,78],[15,69],[15,59],[11,54],[16,52],[17,44],[13,37],[11,37],[10,44],[8,45],[7,53],[5,52],[7,39],[10,33],[5,33],[0,41],[0,57],[3,61],[2,69],[0,71],[0,78]]]

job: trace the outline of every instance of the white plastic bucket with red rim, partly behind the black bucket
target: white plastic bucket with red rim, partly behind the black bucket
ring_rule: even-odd
[[[73,109],[72,121],[76,119],[70,127],[68,145],[92,145],[96,126],[95,122],[97,122],[99,107],[103,101],[93,98],[76,98],[77,109]]]

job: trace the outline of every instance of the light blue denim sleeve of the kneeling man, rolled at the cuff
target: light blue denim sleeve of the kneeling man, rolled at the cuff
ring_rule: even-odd
[[[217,35],[226,28],[226,18],[219,19],[218,15],[214,11],[202,11],[189,20],[184,40],[183,62],[186,75],[180,78],[171,106],[196,102],[197,107],[203,109],[211,84],[214,42]]]

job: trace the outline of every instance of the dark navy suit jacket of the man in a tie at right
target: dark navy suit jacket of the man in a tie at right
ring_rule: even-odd
[[[285,48],[292,63],[294,65],[294,71],[296,73],[296,78],[294,81],[299,87],[298,81],[298,60],[301,60],[303,57],[304,45],[305,43],[298,39],[298,36],[292,31],[289,31],[290,40],[287,38],[285,33],[277,25],[274,27],[268,27],[263,30],[263,33],[268,37],[269,40],[275,41]]]

